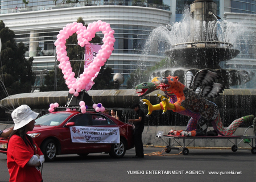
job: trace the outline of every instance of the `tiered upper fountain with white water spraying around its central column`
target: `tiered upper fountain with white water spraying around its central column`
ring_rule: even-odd
[[[238,38],[246,34],[242,24],[217,19],[217,5],[210,0],[196,0],[184,13],[183,21],[173,26],[158,27],[148,44],[155,40],[166,42],[166,55],[175,67],[156,71],[153,76],[179,76],[185,72],[195,74],[200,69],[209,69],[221,76],[218,80],[226,88],[250,81],[254,73],[222,69],[220,63],[233,59],[240,53]]]

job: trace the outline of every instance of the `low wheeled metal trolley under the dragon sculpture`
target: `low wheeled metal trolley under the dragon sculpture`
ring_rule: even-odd
[[[176,149],[176,150],[180,150],[180,147],[182,148],[182,154],[183,155],[188,155],[189,150],[187,148],[187,146],[189,144],[191,144],[194,140],[196,139],[228,139],[231,143],[233,143],[233,146],[231,147],[231,150],[233,152],[236,152],[238,149],[239,150],[247,150],[245,148],[241,149],[238,148],[238,144],[244,140],[244,139],[251,139],[251,144],[249,144],[249,146],[251,147],[251,154],[256,154],[256,147],[254,146],[254,140],[256,139],[255,136],[204,136],[204,137],[188,137],[188,136],[180,136],[180,135],[163,135],[163,133],[161,131],[158,132],[158,134],[156,135],[156,137],[160,138],[160,139],[164,139],[167,138],[168,139],[168,143],[166,143],[164,140],[163,142],[167,144],[166,146],[166,152],[169,153],[172,149]],[[171,144],[171,139],[174,140],[174,143],[177,143],[180,147],[174,147],[172,143]],[[177,141],[179,139],[183,140],[183,146]],[[189,141],[189,143],[187,142],[187,139],[190,139],[191,141]],[[235,139],[235,142],[232,142],[232,140],[230,139]],[[237,143],[237,140],[240,140],[240,142]]]

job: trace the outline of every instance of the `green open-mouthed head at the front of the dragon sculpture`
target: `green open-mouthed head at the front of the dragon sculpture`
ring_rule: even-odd
[[[142,84],[139,84],[135,87],[137,93],[139,94],[139,97],[142,97],[148,93],[153,92],[154,90],[160,89],[160,79],[159,77],[153,78],[152,82],[143,82]],[[141,89],[142,91],[139,91],[138,89]]]

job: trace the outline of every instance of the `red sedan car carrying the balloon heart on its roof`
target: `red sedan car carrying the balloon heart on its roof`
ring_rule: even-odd
[[[78,154],[86,156],[89,153],[105,152],[113,158],[122,158],[126,150],[134,147],[133,126],[123,123],[108,114],[79,111],[55,111],[35,120],[33,131],[27,134],[34,138],[47,161],[53,161],[56,155]],[[76,143],[72,142],[70,127],[82,126],[119,128],[120,143]],[[115,133],[116,134],[116,133]],[[0,152],[6,154],[8,139],[0,139]]]

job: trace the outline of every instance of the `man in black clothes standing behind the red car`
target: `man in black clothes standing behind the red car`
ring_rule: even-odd
[[[142,132],[144,130],[144,113],[139,108],[139,104],[134,104],[131,109],[135,111],[135,119],[129,119],[129,122],[133,122],[134,129],[134,144],[136,155],[133,158],[144,158]]]

